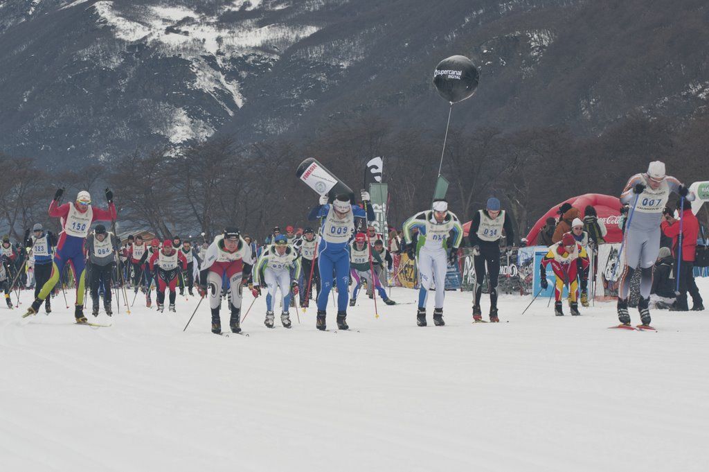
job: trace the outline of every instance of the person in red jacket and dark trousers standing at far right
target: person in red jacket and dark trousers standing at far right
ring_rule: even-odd
[[[680,210],[680,202],[677,202],[677,212]],[[665,236],[672,238],[672,253],[674,254],[674,273],[675,277],[679,277],[679,295],[677,301],[671,310],[676,312],[686,312],[689,307],[687,304],[687,292],[692,296],[692,310],[699,312],[704,309],[704,304],[699,289],[694,281],[694,257],[697,249],[697,238],[699,236],[699,221],[692,213],[691,206],[685,202],[684,211],[682,212],[682,261],[679,263],[677,270],[678,256],[678,236],[679,236],[679,220],[675,219],[672,214],[665,214],[665,219],[660,223],[660,227]]]

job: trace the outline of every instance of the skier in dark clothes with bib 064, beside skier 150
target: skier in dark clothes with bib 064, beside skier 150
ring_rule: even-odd
[[[116,251],[118,251],[118,238],[106,226],[97,224],[93,234],[89,234],[84,243],[84,250],[89,260],[89,288],[93,307],[91,314],[99,316],[99,285],[104,289],[104,310],[110,317],[111,309],[111,280],[113,270],[116,268]]]

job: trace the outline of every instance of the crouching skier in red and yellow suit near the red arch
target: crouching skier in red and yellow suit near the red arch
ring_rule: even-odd
[[[569,302],[571,305],[571,314],[578,316],[579,314],[579,259],[581,267],[588,268],[588,255],[586,249],[581,244],[576,242],[571,233],[562,235],[562,241],[549,246],[547,255],[540,263],[540,282],[542,288],[547,290],[549,282],[547,282],[547,265],[551,264],[556,276],[556,284],[554,285],[554,314],[557,317],[564,316],[562,309],[562,295],[564,286],[569,290]]]

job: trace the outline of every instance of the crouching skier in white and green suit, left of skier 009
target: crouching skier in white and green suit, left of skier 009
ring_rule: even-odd
[[[266,283],[268,294],[266,295],[266,319],[264,324],[267,328],[273,327],[274,312],[273,304],[277,290],[281,290],[281,324],[284,328],[291,327],[291,317],[289,306],[291,301],[291,288],[293,295],[298,295],[298,278],[301,276],[301,258],[298,253],[289,245],[288,237],[284,234],[274,236],[273,243],[264,249],[261,257],[256,263],[253,272],[254,286],[251,290],[254,297],[261,295],[261,282]],[[291,269],[294,276],[291,278]]]

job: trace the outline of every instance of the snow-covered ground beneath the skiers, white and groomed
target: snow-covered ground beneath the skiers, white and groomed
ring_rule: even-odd
[[[709,280],[700,290],[709,298]],[[606,329],[613,304],[557,318],[537,300],[520,316],[530,300],[503,296],[500,324],[471,324],[471,295],[447,292],[447,326],[419,328],[415,304],[379,304],[376,319],[362,297],[358,332],[323,333],[312,308],[267,329],[260,298],[250,337],[226,338],[209,332],[206,303],[182,332],[196,297],[178,297],[177,314],[136,302],[92,328],[61,296],[21,321],[24,293],[0,309],[1,468],[708,469],[709,312],[655,311],[659,331],[622,331]]]

